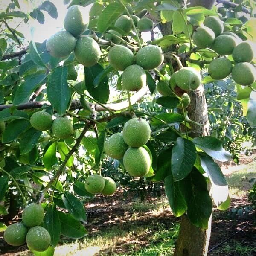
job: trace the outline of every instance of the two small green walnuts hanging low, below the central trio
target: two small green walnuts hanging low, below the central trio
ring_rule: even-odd
[[[87,192],[93,195],[99,193],[102,193],[102,195],[112,195],[116,192],[115,181],[110,177],[102,177],[98,174],[88,176],[84,186]]]

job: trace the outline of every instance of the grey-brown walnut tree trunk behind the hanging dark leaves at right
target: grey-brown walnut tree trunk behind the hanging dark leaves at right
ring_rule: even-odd
[[[190,137],[209,135],[209,122],[207,114],[204,87],[201,85],[197,90],[189,93],[191,103],[188,107],[188,115],[192,121],[200,125],[191,124]],[[195,227],[186,215],[181,217],[180,231],[175,247],[174,256],[207,256],[211,235],[212,216],[209,218],[207,230]]]

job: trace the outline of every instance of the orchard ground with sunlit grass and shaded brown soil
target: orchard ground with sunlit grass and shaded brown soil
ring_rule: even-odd
[[[256,251],[255,213],[231,216],[233,208],[246,207],[248,189],[256,178],[256,154],[240,158],[240,165],[222,163],[230,187],[227,211],[214,209],[208,256],[253,256]],[[179,230],[179,219],[172,215],[162,189],[161,197],[144,201],[124,199],[122,189],[113,196],[96,196],[85,204],[88,235],[83,239],[62,239],[56,256],[162,256],[172,255]],[[223,244],[220,244],[228,239]],[[0,254],[30,256],[26,246],[12,247],[0,233]]]

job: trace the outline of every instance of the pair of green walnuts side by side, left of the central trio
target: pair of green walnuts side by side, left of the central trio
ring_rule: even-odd
[[[70,120],[58,117],[52,121],[52,116],[44,111],[38,111],[30,117],[30,124],[38,131],[47,131],[52,128],[52,133],[59,139],[67,139],[74,133]]]

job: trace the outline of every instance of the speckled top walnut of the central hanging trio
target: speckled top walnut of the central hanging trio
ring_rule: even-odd
[[[123,139],[130,147],[139,148],[148,142],[150,133],[150,126],[146,120],[132,118],[124,125]]]

